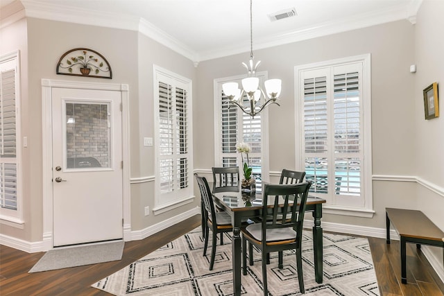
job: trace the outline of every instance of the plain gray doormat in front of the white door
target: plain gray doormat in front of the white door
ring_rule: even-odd
[[[113,241],[49,250],[29,273],[121,260],[123,245],[124,241]]]

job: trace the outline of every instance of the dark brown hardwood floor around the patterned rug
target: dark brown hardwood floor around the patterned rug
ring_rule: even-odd
[[[110,295],[90,287],[96,281],[153,252],[200,225],[194,216],[141,241],[125,243],[121,261],[28,273],[43,252],[28,254],[0,245],[0,295]],[[444,295],[444,284],[415,245],[407,244],[407,285],[400,284],[399,242],[368,238],[381,295]],[[353,295],[350,295],[353,296]]]

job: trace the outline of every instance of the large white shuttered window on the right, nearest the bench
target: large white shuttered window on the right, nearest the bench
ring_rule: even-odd
[[[325,213],[373,216],[370,55],[295,67],[296,167]]]

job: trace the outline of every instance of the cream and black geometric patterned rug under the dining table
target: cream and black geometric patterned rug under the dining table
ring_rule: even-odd
[[[225,234],[224,245],[220,245],[218,237],[212,271],[211,237],[207,256],[203,256],[203,237],[198,227],[92,287],[119,296],[233,295],[231,235]],[[304,230],[302,239],[305,295],[379,295],[367,238],[323,234],[323,284],[316,283],[314,278],[311,230]],[[255,250],[254,265],[248,265],[247,275],[241,275],[242,295],[263,294],[260,258]],[[282,269],[278,268],[278,254],[271,253],[267,268],[269,295],[301,295],[294,252],[284,252]]]

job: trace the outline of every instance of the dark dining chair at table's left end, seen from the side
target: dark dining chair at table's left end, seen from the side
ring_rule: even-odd
[[[203,215],[206,225],[203,256],[207,254],[209,230],[211,229],[213,233],[210,259],[210,270],[213,270],[214,257],[216,256],[217,234],[220,233],[223,235],[223,233],[225,232],[232,231],[231,217],[225,211],[216,211],[214,209],[213,196],[210,190],[210,186],[208,186],[207,179],[205,177],[200,177],[197,173],[195,173],[194,176],[196,177],[196,181],[200,190],[200,197],[202,198]],[[221,240],[221,245],[223,245],[223,240]]]

